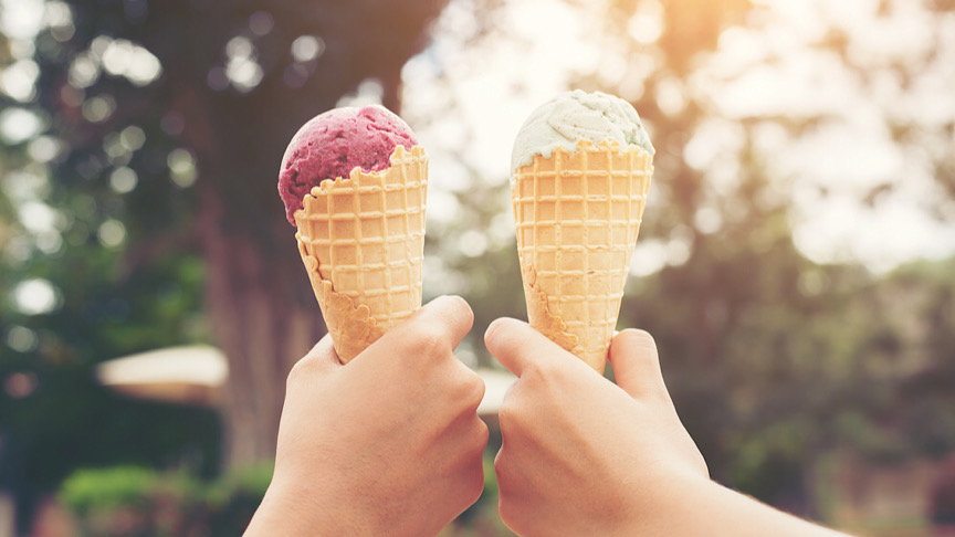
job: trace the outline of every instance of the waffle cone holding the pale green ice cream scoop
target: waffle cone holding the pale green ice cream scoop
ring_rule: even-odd
[[[602,372],[643,208],[652,157],[579,140],[514,171],[517,253],[531,326]]]

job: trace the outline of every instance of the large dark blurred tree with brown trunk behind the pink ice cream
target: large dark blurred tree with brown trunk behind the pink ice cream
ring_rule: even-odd
[[[401,66],[443,3],[45,2],[35,36],[4,48],[8,69],[38,75],[4,106],[45,126],[9,144],[28,170],[14,180],[40,178],[34,207],[57,214],[66,248],[122,249],[101,268],[120,281],[201,255],[211,338],[230,364],[233,464],[274,453],[285,375],[324,333],[275,191],[284,146],[363,84],[398,110]],[[84,284],[90,264],[75,261],[72,282],[56,281],[64,294]]]

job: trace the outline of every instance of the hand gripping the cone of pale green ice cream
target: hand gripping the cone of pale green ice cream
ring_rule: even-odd
[[[671,503],[710,483],[646,331],[611,343],[619,387],[525,323],[497,319],[484,340],[518,377],[499,414],[494,463],[501,518],[515,533],[667,535]]]

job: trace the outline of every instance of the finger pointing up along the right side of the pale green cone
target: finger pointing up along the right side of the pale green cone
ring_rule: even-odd
[[[609,357],[617,386],[630,397],[667,393],[657,343],[649,333],[631,328],[617,334],[610,341]]]

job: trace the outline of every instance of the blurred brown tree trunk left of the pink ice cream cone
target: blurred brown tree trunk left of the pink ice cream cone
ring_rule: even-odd
[[[263,252],[256,238],[225,223],[213,189],[204,189],[202,200],[207,309],[229,359],[223,455],[234,467],[275,455],[285,378],[325,326],[294,230],[282,220],[284,229],[273,231],[275,250]]]

